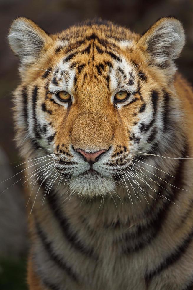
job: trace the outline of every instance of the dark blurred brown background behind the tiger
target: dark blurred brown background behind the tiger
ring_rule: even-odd
[[[101,17],[124,25],[137,33],[143,33],[158,18],[170,15],[179,18],[184,25],[186,46],[177,64],[179,71],[190,83],[193,83],[192,0],[0,0],[1,290],[27,289],[25,283],[28,248],[26,201],[22,181],[19,181],[22,174],[2,182],[17,174],[20,168],[15,167],[19,164],[19,157],[14,146],[12,120],[12,91],[20,80],[17,72],[17,58],[10,51],[6,40],[10,23],[17,16],[25,16],[49,33],[55,33],[76,22]],[[12,186],[13,183],[15,184]]]

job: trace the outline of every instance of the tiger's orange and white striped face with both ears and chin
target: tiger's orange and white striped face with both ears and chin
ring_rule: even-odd
[[[24,155],[49,152],[71,191],[111,194],[138,152],[166,152],[178,110],[173,60],[184,45],[178,20],[162,18],[143,36],[100,21],[48,35],[18,18],[9,42],[21,62],[18,145],[26,138]]]

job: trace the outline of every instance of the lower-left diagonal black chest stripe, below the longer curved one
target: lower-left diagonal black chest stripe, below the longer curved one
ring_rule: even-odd
[[[48,239],[46,238],[45,233],[42,231],[42,229],[40,228],[40,225],[37,222],[36,222],[36,228],[37,228],[38,236],[40,237],[42,244],[43,244],[46,252],[48,253],[50,259],[53,262],[55,262],[55,264],[57,264],[59,268],[65,270],[66,273],[68,274],[68,276],[70,276],[73,280],[78,281],[78,278],[77,278],[76,274],[73,273],[73,270],[71,269],[71,267],[66,265],[66,262],[63,261],[60,257],[58,257],[55,254],[55,251],[52,247],[52,243],[48,242]]]

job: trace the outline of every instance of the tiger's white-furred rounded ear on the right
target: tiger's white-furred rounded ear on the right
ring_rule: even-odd
[[[149,61],[161,67],[173,64],[184,43],[184,29],[181,22],[174,17],[161,18],[139,40],[139,44],[149,54]]]

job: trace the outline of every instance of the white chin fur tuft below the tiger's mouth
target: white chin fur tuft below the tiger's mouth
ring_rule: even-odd
[[[92,173],[82,174],[68,181],[71,191],[77,192],[81,196],[104,196],[115,191],[115,181],[106,176]]]

